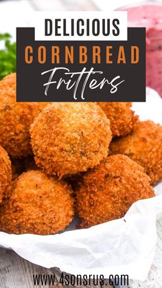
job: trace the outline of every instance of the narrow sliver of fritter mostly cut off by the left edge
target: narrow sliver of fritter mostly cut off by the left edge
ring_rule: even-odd
[[[8,153],[0,146],[0,203],[10,192],[12,173]]]

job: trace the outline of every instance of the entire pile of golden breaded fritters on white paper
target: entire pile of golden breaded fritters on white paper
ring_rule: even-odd
[[[129,102],[16,102],[0,82],[0,230],[55,234],[124,217],[162,179],[162,126]]]

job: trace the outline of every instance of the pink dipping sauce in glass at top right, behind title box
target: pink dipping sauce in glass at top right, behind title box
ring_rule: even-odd
[[[146,27],[146,85],[162,96],[162,3],[126,6],[129,27]]]

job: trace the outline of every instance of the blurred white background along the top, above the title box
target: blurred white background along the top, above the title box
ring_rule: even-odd
[[[157,0],[156,0],[157,1]],[[152,2],[156,2],[152,0]],[[0,33],[16,36],[15,27],[32,25],[32,11],[115,10],[124,5],[143,3],[141,0],[0,0]],[[148,1],[150,2],[150,1]],[[159,0],[162,3],[162,0]]]

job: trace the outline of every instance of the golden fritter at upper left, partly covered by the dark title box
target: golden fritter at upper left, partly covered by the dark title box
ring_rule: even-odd
[[[0,145],[12,157],[32,154],[30,124],[47,106],[42,102],[16,102],[16,74],[0,81]]]

